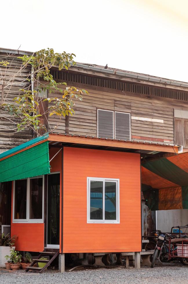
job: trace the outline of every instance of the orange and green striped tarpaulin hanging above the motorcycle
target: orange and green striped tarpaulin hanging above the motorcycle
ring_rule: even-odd
[[[143,162],[141,178],[149,209],[188,209],[188,152]]]

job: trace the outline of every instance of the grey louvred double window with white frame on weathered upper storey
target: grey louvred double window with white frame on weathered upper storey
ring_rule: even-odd
[[[98,137],[130,140],[130,113],[97,110]]]

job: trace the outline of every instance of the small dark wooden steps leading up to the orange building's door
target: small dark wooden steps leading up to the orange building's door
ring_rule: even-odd
[[[29,270],[35,271],[35,272],[40,272],[42,273],[49,265],[50,263],[52,263],[52,261],[59,255],[59,250],[53,250],[53,252],[40,252],[39,256],[35,259],[33,259],[32,263],[30,264],[30,266],[28,266],[26,268],[26,272],[28,272]],[[45,256],[49,256],[50,259],[40,259],[41,257],[45,257]],[[35,263],[38,262],[42,262],[42,263],[46,263],[44,267],[36,267],[34,266]]]

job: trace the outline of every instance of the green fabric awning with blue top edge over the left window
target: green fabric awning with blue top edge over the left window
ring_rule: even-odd
[[[48,134],[0,154],[0,182],[50,173]]]

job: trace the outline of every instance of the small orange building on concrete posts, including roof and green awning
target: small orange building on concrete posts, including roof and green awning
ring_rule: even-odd
[[[139,262],[140,156],[154,150],[178,147],[46,134],[1,154],[0,181],[12,181],[16,250],[56,250],[62,271],[67,253],[90,262],[95,254],[135,252]]]

